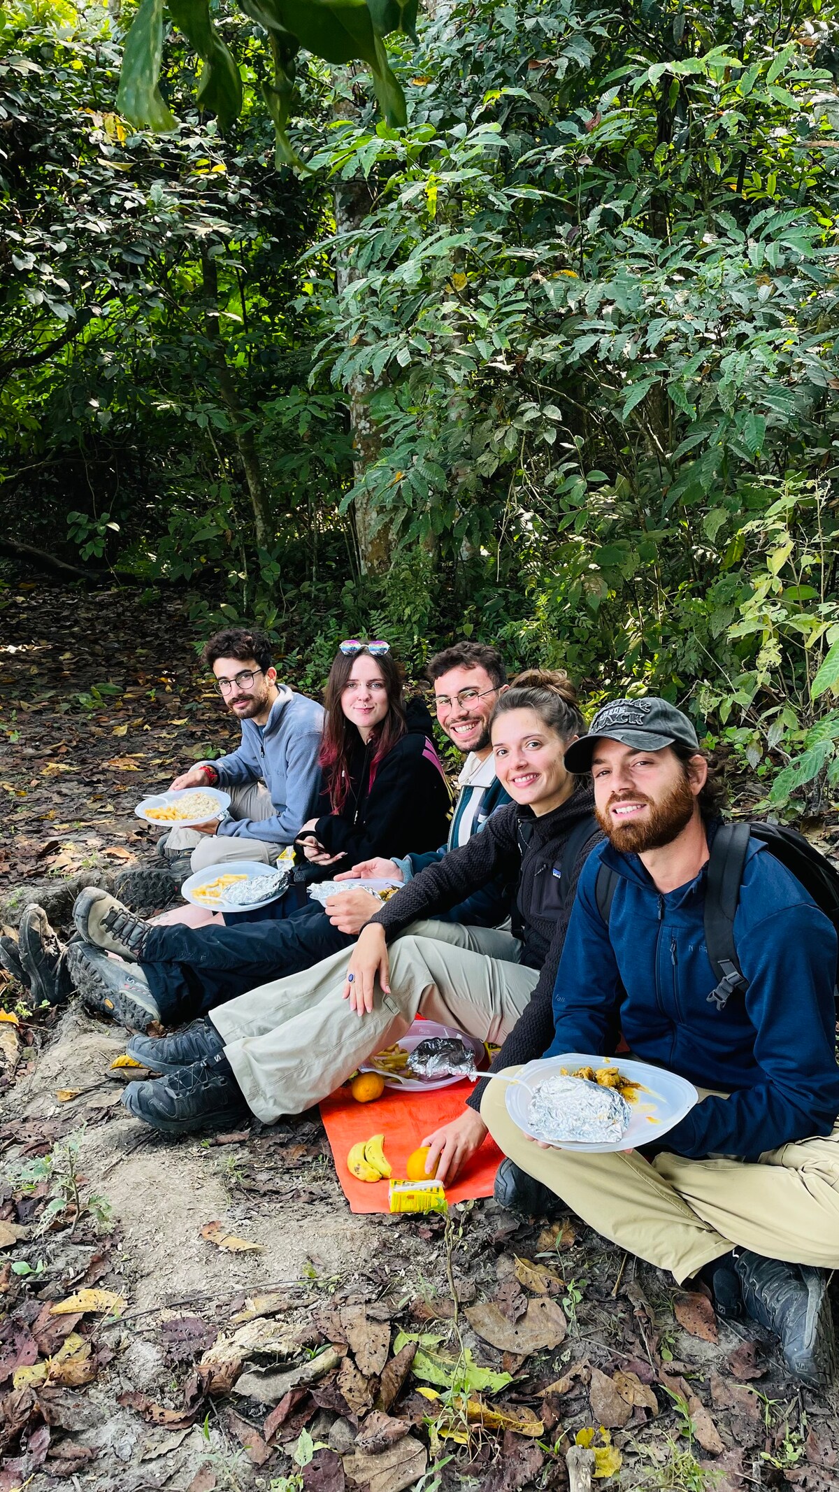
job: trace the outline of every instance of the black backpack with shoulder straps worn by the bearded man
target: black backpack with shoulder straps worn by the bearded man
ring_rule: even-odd
[[[742,871],[750,834],[766,844],[770,855],[796,877],[839,934],[839,871],[796,830],[781,824],[721,824],[711,844],[705,888],[705,947],[717,986],[708,995],[718,1010],[736,989],[745,991],[735,947],[735,912],[741,895]],[[601,865],[595,895],[608,927],[618,874]],[[839,970],[838,970],[839,980]],[[838,998],[839,1013],[839,998]]]

